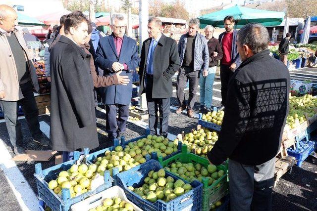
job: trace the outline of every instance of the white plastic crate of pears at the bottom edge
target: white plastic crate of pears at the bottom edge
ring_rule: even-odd
[[[135,204],[127,199],[123,189],[119,186],[108,188],[94,196],[91,196],[81,202],[72,205],[71,211],[89,211],[90,209],[96,208],[97,206],[101,205],[106,198],[112,199],[113,197],[119,197],[125,202],[130,203],[133,206],[134,211],[142,211],[139,207],[137,207]]]

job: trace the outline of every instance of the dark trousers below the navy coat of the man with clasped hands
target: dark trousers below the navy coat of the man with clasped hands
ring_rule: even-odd
[[[118,119],[117,110],[118,108]],[[125,131],[127,120],[129,118],[129,105],[106,105],[106,130],[113,138]]]

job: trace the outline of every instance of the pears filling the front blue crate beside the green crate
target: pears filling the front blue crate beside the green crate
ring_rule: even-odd
[[[149,202],[156,202],[162,200],[170,202],[171,200],[192,190],[189,183],[185,183],[181,179],[175,179],[171,176],[165,178],[165,170],[159,171],[151,170],[148,176],[144,179],[144,184],[139,188],[127,187],[129,190],[141,196]]]

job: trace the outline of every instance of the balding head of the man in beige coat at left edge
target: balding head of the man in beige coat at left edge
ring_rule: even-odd
[[[17,25],[18,15],[16,11],[5,4],[0,4],[0,28],[6,32],[12,32]]]

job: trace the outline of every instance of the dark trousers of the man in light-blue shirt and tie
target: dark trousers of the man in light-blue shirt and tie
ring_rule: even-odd
[[[146,97],[149,112],[149,128],[151,130],[151,134],[157,134],[159,121],[159,134],[166,137],[168,133],[168,115],[170,112],[170,98],[152,98],[153,78],[146,77],[145,81]]]

